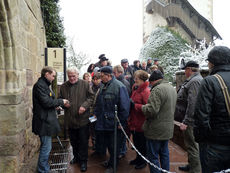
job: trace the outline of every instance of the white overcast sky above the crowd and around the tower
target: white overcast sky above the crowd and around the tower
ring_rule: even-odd
[[[105,53],[113,65],[138,59],[143,37],[142,0],[60,0],[65,34],[92,63]],[[214,0],[214,26],[230,46],[230,0]]]

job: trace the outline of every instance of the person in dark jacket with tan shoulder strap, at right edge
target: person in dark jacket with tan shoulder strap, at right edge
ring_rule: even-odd
[[[201,82],[194,112],[203,173],[230,167],[230,49],[215,46],[207,60],[210,75]]]

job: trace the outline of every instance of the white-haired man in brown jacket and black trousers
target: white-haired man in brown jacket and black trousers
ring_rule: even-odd
[[[87,81],[78,78],[76,67],[67,69],[68,81],[61,85],[60,98],[66,98],[70,105],[65,106],[65,123],[69,130],[74,158],[70,164],[79,162],[82,172],[87,170],[89,139],[89,108],[94,93]]]

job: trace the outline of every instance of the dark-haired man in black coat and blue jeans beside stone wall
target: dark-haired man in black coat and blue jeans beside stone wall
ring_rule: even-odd
[[[49,88],[55,79],[56,72],[52,67],[44,67],[41,77],[33,87],[33,120],[32,131],[39,135],[41,146],[38,158],[38,173],[50,171],[48,159],[52,148],[52,135],[60,131],[56,108],[68,103],[66,99],[55,99],[54,92]]]

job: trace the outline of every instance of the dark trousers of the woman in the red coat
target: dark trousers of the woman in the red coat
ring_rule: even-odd
[[[146,139],[144,136],[144,132],[136,132],[131,131],[133,135],[133,143],[137,150],[145,157],[146,156]],[[138,160],[138,164],[143,164],[145,161],[142,157],[137,154],[136,159]]]

